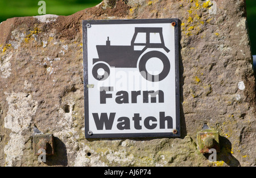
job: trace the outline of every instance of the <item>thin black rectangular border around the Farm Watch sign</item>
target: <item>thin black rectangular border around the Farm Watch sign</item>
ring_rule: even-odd
[[[177,133],[125,133],[125,134],[88,134],[89,101],[88,101],[88,56],[86,24],[135,24],[135,23],[172,23],[175,22],[175,93],[176,93],[176,131]],[[118,20],[82,20],[82,48],[84,65],[84,117],[85,138],[147,138],[147,137],[179,137],[180,136],[180,80],[179,80],[179,19],[118,19]]]

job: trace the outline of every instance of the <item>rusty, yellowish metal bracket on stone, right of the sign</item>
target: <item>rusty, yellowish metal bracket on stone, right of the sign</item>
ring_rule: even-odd
[[[216,152],[220,152],[219,133],[214,129],[209,129],[207,125],[197,133],[197,148],[201,154],[208,154],[209,150],[214,148]]]

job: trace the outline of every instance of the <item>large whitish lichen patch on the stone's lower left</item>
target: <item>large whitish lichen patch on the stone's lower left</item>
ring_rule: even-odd
[[[23,131],[30,130],[32,117],[38,108],[38,102],[26,93],[5,93],[9,109],[5,117],[5,128],[11,130],[10,140],[4,148],[7,166],[22,159],[23,147],[26,142]]]

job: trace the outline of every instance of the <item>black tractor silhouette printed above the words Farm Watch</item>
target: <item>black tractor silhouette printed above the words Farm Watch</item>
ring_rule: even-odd
[[[164,53],[152,49],[143,54],[148,48],[162,48],[167,53],[170,50],[164,45],[163,29],[159,27],[135,27],[133,39],[131,39],[131,45],[110,45],[110,40],[106,41],[106,45],[96,45],[98,52],[98,59],[93,59],[92,74],[96,80],[102,81],[109,77],[110,67],[116,68],[138,68],[142,76],[152,82],[163,80],[170,71],[170,61]],[[158,39],[154,43],[150,43],[151,34],[157,35]],[[138,38],[138,39],[137,39]],[[146,38],[146,39],[143,39]],[[139,40],[139,42],[138,42]],[[143,43],[140,42],[143,40]],[[134,50],[136,47],[141,49]],[[159,74],[153,75],[148,73],[146,69],[146,63],[152,57],[160,59],[163,63],[163,70]],[[118,59],[118,62],[117,62]],[[109,66],[107,64],[109,64]],[[104,74],[98,74],[98,69],[103,69]]]

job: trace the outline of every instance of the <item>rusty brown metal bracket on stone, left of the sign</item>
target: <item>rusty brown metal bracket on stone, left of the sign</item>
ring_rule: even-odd
[[[54,136],[53,134],[33,135],[34,154],[40,155],[40,149],[46,151],[46,155],[54,154]]]

